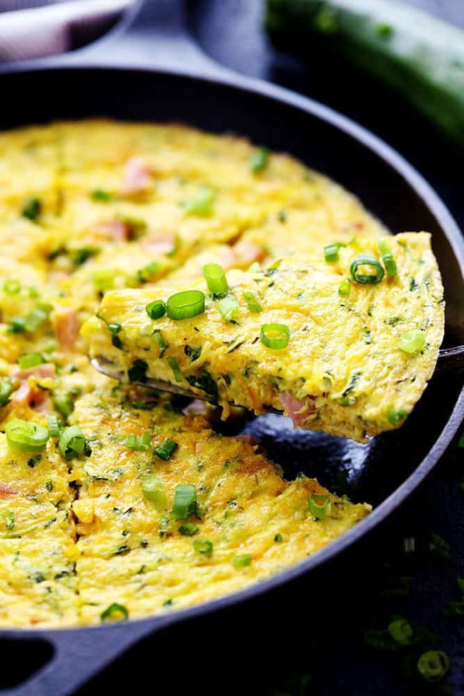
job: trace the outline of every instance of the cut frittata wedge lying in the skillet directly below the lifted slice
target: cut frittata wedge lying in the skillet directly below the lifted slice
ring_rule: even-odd
[[[88,395],[73,419],[92,443],[86,461],[74,460],[84,624],[166,612],[248,587],[315,553],[370,509],[303,475],[285,481],[256,446],[166,406],[147,411]],[[130,450],[127,438],[143,434],[150,446]],[[170,454],[167,440],[176,445]],[[182,506],[182,490],[195,502]],[[310,506],[318,502],[324,510],[317,518]]]

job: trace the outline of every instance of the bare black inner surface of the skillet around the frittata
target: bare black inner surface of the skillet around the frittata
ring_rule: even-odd
[[[394,232],[432,232],[445,281],[445,342],[464,343],[464,281],[440,223],[381,157],[328,122],[241,88],[134,70],[79,68],[6,74],[2,94],[2,129],[86,116],[180,121],[213,132],[236,132],[274,150],[290,152],[356,193]],[[334,491],[349,492],[356,502],[378,505],[424,459],[449,418],[460,384],[452,376],[435,377],[406,425],[367,445],[294,432],[289,420],[272,415],[250,420],[245,432],[266,446],[288,476],[304,470]]]

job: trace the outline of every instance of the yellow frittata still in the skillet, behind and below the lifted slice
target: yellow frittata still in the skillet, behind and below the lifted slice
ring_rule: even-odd
[[[252,282],[265,303],[266,286],[289,283],[307,255],[353,237],[362,250],[386,233],[342,187],[234,136],[108,120],[0,134],[0,626],[98,624],[207,601],[304,559],[368,514],[303,475],[286,481],[257,445],[217,434],[195,409],[185,416],[166,394],[102,376],[80,329],[111,292],[157,299],[170,284],[205,287],[211,262],[231,287],[262,278]],[[414,256],[421,244],[431,278],[414,267],[418,313],[426,282],[439,301],[424,235],[408,247]],[[331,274],[353,249],[340,248]],[[279,264],[283,255],[294,259]],[[367,307],[361,290],[346,300],[356,311]],[[419,328],[411,312],[398,334]],[[410,358],[423,380],[440,324],[429,313],[430,345]],[[219,338],[239,334],[218,316]],[[378,340],[375,316],[366,330]],[[108,354],[122,356],[126,329],[111,331],[104,324]],[[176,335],[164,337],[166,356],[177,355]],[[227,349],[225,375],[241,356]],[[205,364],[207,350],[188,357]],[[414,389],[392,405],[412,407]]]

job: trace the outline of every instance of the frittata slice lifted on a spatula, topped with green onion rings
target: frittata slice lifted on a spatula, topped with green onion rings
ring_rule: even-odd
[[[327,260],[321,250],[230,271],[219,297],[205,279],[109,292],[83,333],[93,356],[129,380],[162,379],[225,413],[228,403],[272,408],[298,426],[365,441],[413,410],[444,331],[430,235],[386,237],[381,248],[355,239],[333,244]],[[195,291],[196,304],[184,291]],[[151,306],[159,300],[167,314]]]

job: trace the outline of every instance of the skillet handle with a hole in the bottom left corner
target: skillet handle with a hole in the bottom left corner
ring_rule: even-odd
[[[28,650],[42,643],[51,658],[26,681],[1,688],[0,696],[68,696],[93,679],[104,667],[139,640],[170,622],[170,619],[120,622],[90,628],[56,631],[2,631],[8,654],[18,664],[28,659]],[[8,668],[7,668],[8,669]]]

